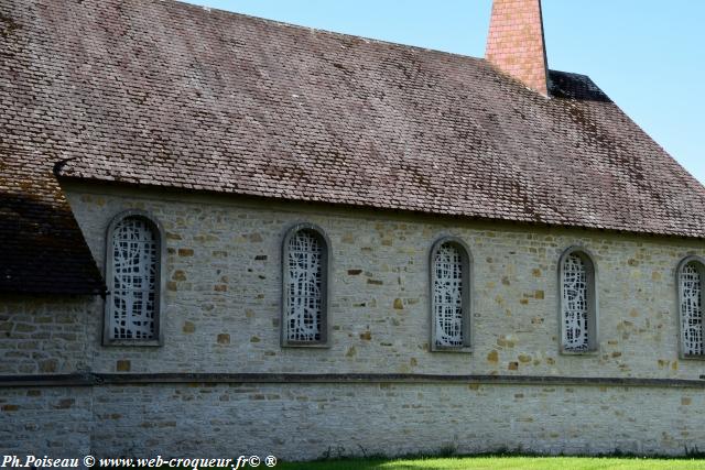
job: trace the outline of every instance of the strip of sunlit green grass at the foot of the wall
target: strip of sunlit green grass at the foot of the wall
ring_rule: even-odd
[[[705,469],[699,459],[638,459],[589,457],[447,457],[427,459],[350,459],[317,462],[281,463],[282,470],[442,470],[442,469],[530,469],[530,470],[593,470],[593,469]]]

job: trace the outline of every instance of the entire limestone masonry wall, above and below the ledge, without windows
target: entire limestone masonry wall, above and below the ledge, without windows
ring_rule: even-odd
[[[224,457],[462,452],[683,453],[703,448],[705,362],[679,359],[675,269],[705,255],[677,238],[490,223],[64,183],[99,263],[112,217],[164,227],[164,346],[102,346],[102,299],[0,300],[4,376],[66,373],[437,374],[534,383],[0,385],[0,450]],[[280,346],[281,242],[296,222],[330,240],[329,349]],[[431,352],[429,252],[473,258],[473,352]],[[557,263],[593,255],[598,351],[558,348]],[[687,380],[688,386],[539,384],[542,378]],[[695,384],[695,385],[693,385]]]

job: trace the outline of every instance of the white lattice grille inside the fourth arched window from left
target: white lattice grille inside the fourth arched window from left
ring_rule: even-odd
[[[589,273],[586,262],[571,253],[563,261],[563,348],[582,352],[589,349]]]

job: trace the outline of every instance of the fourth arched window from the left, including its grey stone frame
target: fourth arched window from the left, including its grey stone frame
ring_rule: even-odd
[[[596,351],[598,342],[595,264],[585,250],[572,248],[561,256],[558,273],[562,351]]]

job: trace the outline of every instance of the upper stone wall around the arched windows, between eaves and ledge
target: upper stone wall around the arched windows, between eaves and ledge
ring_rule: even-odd
[[[675,269],[705,243],[611,232],[155,192],[68,187],[99,265],[112,217],[140,208],[167,242],[165,345],[90,345],[101,372],[415,372],[697,379],[677,352]],[[282,349],[281,242],[308,221],[332,243],[332,348]],[[430,352],[429,252],[443,236],[474,259],[471,354]],[[558,353],[557,263],[595,255],[599,353]],[[122,361],[122,362],[120,362]]]

